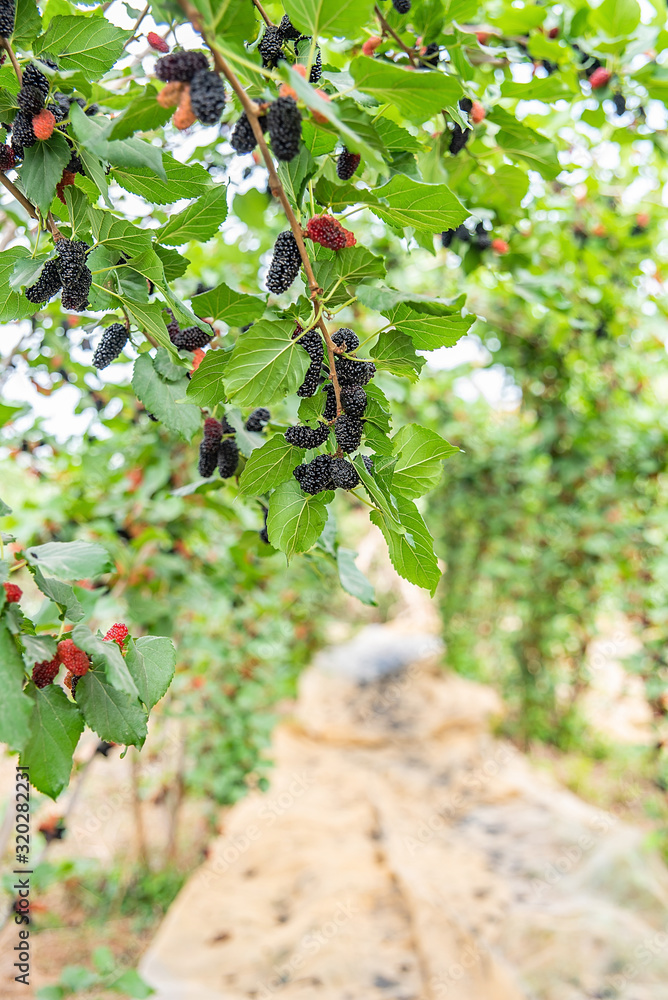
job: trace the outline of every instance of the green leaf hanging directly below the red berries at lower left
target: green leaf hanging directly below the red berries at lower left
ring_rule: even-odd
[[[146,712],[136,698],[108,684],[101,671],[89,670],[77,684],[77,705],[86,724],[102,740],[142,746]]]

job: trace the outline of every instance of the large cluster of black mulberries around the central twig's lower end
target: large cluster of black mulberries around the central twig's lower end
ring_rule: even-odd
[[[304,384],[299,388],[298,395],[313,396],[318,386],[331,373],[327,369],[321,374],[324,349],[320,335],[315,330],[303,333],[297,327],[293,338],[299,338],[300,345],[307,351],[311,364],[306,374]],[[337,444],[336,455],[317,455],[312,461],[298,466],[293,470],[297,482],[305,493],[320,493],[339,487],[350,490],[357,486],[359,477],[355,467],[343,455],[357,451],[362,443],[364,420],[362,419],[367,406],[367,394],[364,386],[374,377],[376,366],[372,361],[363,361],[354,357],[359,347],[359,338],[352,330],[344,327],[332,336],[341,354],[335,355],[334,364],[339,382],[341,408],[337,416],[336,394],[331,381],[327,381],[323,391],[327,393],[323,420],[316,427],[299,424],[289,427],[285,432],[285,440],[296,448],[308,450],[319,448],[328,439],[330,430],[334,428]],[[366,462],[366,459],[365,459]]]

